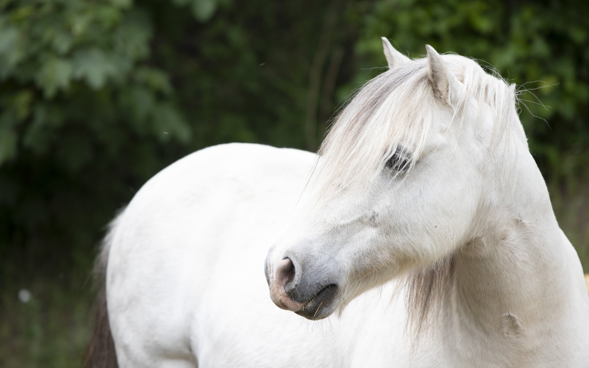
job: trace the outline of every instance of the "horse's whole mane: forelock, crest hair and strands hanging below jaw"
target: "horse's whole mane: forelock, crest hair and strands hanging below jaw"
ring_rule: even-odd
[[[493,68],[486,68],[491,69],[492,75],[488,74],[473,59],[454,54],[442,58],[464,87],[451,124],[458,122],[462,127],[467,111],[478,117],[477,122],[468,124],[478,124],[482,108],[473,112],[473,99],[479,107],[491,107],[494,125],[488,145],[490,158],[502,138],[509,136],[505,132],[514,131],[509,127],[517,102],[515,84],[509,85]],[[401,146],[411,152],[406,171],[409,173],[421,158],[428,132],[440,117],[441,108],[428,79],[426,58],[406,62],[368,81],[337,116],[319,148],[320,165],[311,179],[317,185],[317,200],[326,200],[375,179],[392,152]],[[454,248],[462,245],[456,244]],[[415,337],[428,326],[431,310],[442,301],[442,291],[453,274],[454,259],[454,254],[447,254],[403,279],[407,326]]]

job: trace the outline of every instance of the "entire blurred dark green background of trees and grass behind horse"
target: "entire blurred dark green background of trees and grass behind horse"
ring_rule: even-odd
[[[80,366],[88,274],[117,209],[208,145],[315,150],[384,70],[380,36],[532,90],[521,121],[588,270],[588,4],[0,0],[0,366]]]

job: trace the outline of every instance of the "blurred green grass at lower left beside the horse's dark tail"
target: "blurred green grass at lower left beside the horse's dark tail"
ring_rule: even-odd
[[[92,327],[90,290],[77,280],[68,282],[63,273],[52,280],[38,279],[29,287],[27,303],[18,300],[16,289],[0,294],[0,364],[80,367]]]

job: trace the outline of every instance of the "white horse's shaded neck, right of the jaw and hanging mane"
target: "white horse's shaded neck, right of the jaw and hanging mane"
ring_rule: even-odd
[[[527,144],[512,148],[514,165],[500,179],[489,178],[495,185],[481,205],[484,220],[452,261],[445,322],[545,348],[547,339],[570,338],[571,322],[587,328],[587,291]]]

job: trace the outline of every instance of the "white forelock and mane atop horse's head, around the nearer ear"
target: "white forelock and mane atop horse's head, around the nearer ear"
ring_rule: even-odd
[[[453,101],[454,111],[446,105],[452,122],[458,120],[462,126],[468,109],[478,110],[480,117],[482,104],[489,105],[494,113],[489,147],[496,147],[514,111],[515,84],[508,86],[487,74],[472,59],[443,58],[462,84],[461,94]],[[367,82],[336,118],[319,149],[323,162],[314,179],[322,188],[320,195],[333,195],[373,179],[399,147],[411,153],[407,157],[411,170],[422,157],[428,131],[442,117],[441,102],[428,79],[427,58],[398,65]]]

